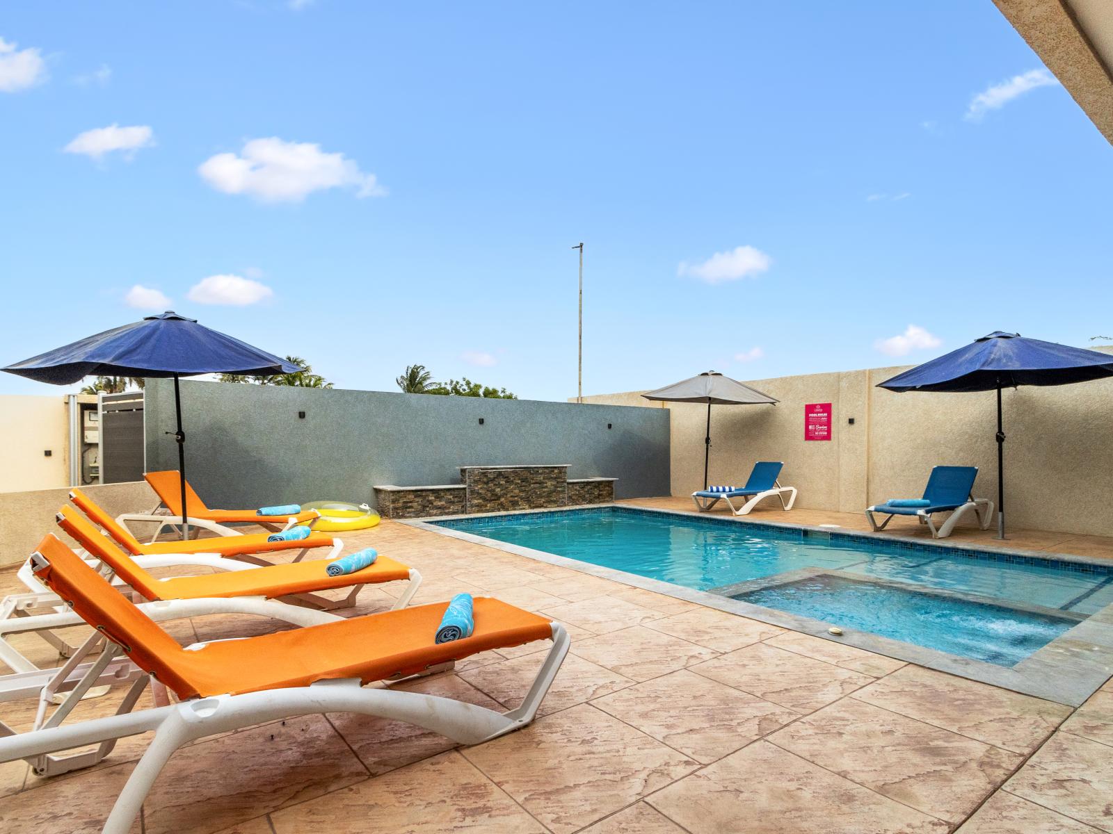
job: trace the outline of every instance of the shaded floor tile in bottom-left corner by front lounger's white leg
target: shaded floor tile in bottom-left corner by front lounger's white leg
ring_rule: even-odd
[[[121,764],[65,780],[50,780],[33,791],[4,797],[0,831],[4,834],[99,834],[135,765]],[[130,832],[139,834],[137,816]]]

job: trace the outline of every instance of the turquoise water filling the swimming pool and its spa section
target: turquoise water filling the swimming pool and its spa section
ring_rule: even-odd
[[[838,572],[737,598],[1006,666],[1078,619],[1032,613],[1011,603],[1075,615],[1113,603],[1113,568],[839,533],[817,535],[727,518],[600,507],[435,524],[698,590],[804,568]],[[923,586],[925,593],[871,578]],[[933,588],[976,594],[995,604],[933,595]]]

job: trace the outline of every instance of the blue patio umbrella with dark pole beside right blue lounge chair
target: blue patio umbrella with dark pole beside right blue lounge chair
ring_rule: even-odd
[[[966,347],[877,385],[890,391],[997,391],[997,537],[1005,537],[1002,388],[1068,385],[1113,377],[1113,356],[995,330]]]

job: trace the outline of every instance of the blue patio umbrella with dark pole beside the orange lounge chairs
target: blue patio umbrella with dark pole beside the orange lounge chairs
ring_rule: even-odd
[[[184,533],[188,535],[186,433],[181,430],[178,378],[197,374],[296,374],[301,368],[232,336],[210,330],[197,324],[197,319],[167,311],[32,356],[2,370],[53,385],[72,385],[90,375],[173,378],[181,520]]]

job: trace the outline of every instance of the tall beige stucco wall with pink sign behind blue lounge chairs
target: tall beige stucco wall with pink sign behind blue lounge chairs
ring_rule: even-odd
[[[855,513],[918,497],[932,467],[951,464],[979,467],[975,492],[996,500],[994,393],[876,387],[907,367],[746,380],[780,403],[712,406],[710,481],[738,484],[755,460],[784,460],[797,506]],[[702,485],[706,406],[650,403],[640,391],[584,400],[671,409],[672,494]],[[831,403],[831,440],[804,439],[807,403]],[[1004,406],[1009,526],[1113,536],[1113,380],[1006,390]]]

